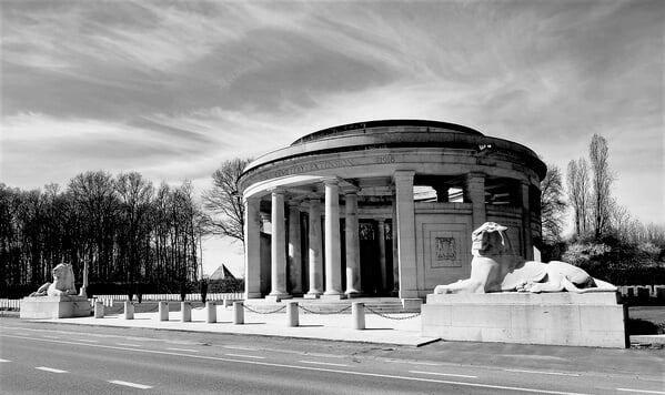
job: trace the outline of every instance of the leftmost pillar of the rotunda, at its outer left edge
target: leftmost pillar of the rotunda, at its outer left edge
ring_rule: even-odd
[[[261,297],[261,200],[244,201],[244,297]]]

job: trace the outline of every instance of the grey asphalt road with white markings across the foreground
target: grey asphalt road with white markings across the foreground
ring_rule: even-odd
[[[421,348],[0,321],[6,394],[665,394],[662,352]]]

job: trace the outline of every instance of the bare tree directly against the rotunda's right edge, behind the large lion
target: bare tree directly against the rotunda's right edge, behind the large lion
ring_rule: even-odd
[[[541,181],[541,219],[545,242],[555,243],[561,239],[565,210],[561,171],[554,164],[548,164],[547,173]]]

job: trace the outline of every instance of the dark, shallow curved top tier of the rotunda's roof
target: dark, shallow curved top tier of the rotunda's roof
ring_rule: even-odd
[[[347,123],[333,128],[322,129],[314,133],[306,134],[295,140],[291,145],[309,143],[318,140],[331,138],[340,138],[347,134],[366,133],[369,130],[373,132],[397,131],[403,132],[425,132],[425,133],[461,133],[483,136],[484,134],[477,130],[449,122],[430,121],[430,120],[377,120]]]

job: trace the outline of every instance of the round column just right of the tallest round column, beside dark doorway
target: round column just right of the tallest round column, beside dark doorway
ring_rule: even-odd
[[[346,291],[349,296],[361,293],[360,237],[357,234],[357,194],[349,192],[346,200],[345,243],[346,243]]]

